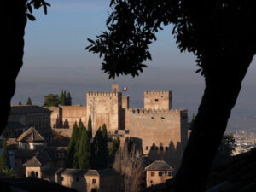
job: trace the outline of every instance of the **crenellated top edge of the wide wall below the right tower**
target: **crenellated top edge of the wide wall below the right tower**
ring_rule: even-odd
[[[131,114],[172,114],[172,115],[180,115],[180,113],[187,113],[187,109],[144,109],[144,108],[131,108],[129,109],[129,113]]]

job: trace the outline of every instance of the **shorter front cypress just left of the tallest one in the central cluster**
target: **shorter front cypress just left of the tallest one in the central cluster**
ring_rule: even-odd
[[[79,168],[89,169],[90,158],[90,137],[88,136],[88,131],[84,128],[79,144]]]

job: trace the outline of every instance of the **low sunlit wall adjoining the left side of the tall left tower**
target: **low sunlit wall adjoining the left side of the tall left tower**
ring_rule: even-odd
[[[74,123],[81,119],[84,125],[87,125],[87,115],[85,106],[61,106],[62,109],[62,127],[73,128]]]

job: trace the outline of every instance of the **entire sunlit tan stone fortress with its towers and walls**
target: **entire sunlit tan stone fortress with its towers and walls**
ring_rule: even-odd
[[[87,125],[91,116],[93,134],[106,124],[109,136],[133,137],[150,160],[177,169],[188,139],[188,110],[172,109],[172,91],[144,91],[144,108],[129,108],[118,84],[111,92],[87,92],[86,99],[86,106],[48,108],[53,130],[70,135],[75,121]]]

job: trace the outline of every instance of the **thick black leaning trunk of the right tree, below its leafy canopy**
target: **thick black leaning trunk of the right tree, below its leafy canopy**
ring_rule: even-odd
[[[205,190],[205,182],[224,135],[231,109],[241,90],[253,51],[239,49],[232,54],[208,55],[206,88],[192,127],[183,160],[175,177],[177,192]]]

